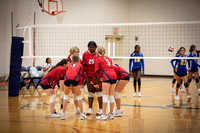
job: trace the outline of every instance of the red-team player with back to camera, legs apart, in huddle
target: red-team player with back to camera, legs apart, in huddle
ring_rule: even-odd
[[[64,102],[63,102],[63,113],[61,114],[60,119],[65,119],[65,111],[67,107],[67,101],[69,97],[69,92],[71,90],[71,87],[74,89],[74,92],[76,94],[76,99],[78,106],[80,108],[81,112],[81,120],[86,119],[87,117],[83,113],[83,106],[82,106],[82,96],[81,96],[81,89],[80,85],[83,85],[83,66],[79,62],[79,56],[74,55],[72,57],[72,63],[67,65],[66,74],[65,74],[65,86],[64,86]]]

